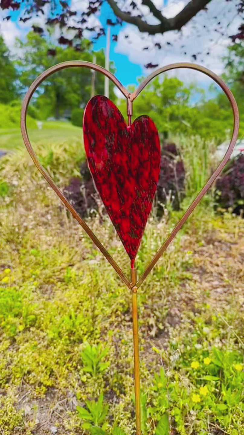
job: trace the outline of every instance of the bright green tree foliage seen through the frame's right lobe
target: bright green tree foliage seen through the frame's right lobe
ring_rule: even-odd
[[[196,95],[201,98],[194,104]],[[232,117],[230,107],[219,105],[219,96],[208,100],[204,90],[194,84],[185,86],[177,78],[166,76],[161,81],[156,77],[135,100],[133,118],[147,114],[165,138],[175,134],[198,135],[206,139],[214,137],[220,143],[226,130],[232,127]],[[120,103],[120,110],[126,119],[124,102]]]

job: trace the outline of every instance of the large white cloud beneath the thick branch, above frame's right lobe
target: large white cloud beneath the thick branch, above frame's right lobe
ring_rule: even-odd
[[[157,1],[159,3],[161,0]],[[182,10],[185,3],[170,0],[162,11],[165,16],[173,17]],[[222,74],[224,69],[222,58],[227,54],[227,47],[231,43],[229,36],[237,32],[241,23],[235,3],[224,3],[223,5],[223,0],[212,0],[208,4],[208,10],[198,13],[180,32],[148,36],[140,33],[135,26],[127,25],[119,33],[115,51],[128,56],[131,62],[142,67],[150,62],[162,67],[184,61],[204,65],[216,74]],[[161,44],[161,50],[155,47],[155,43]],[[147,49],[143,50],[145,48]],[[197,57],[196,60],[193,55]],[[144,68],[144,75],[148,75],[151,71]],[[189,70],[182,70],[180,77],[187,81],[208,82],[206,76],[201,77]]]

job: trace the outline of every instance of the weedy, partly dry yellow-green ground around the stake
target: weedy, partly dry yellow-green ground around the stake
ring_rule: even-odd
[[[38,155],[63,187],[80,130],[45,134]],[[181,213],[150,217],[138,274]],[[109,219],[87,221],[129,275]],[[135,434],[131,294],[23,147],[0,159],[0,228],[0,433]],[[244,434],[243,259],[244,220],[209,194],[139,289],[144,435]]]

